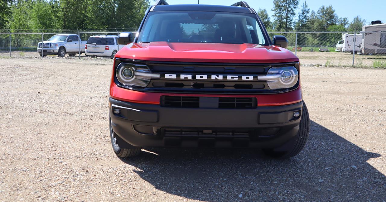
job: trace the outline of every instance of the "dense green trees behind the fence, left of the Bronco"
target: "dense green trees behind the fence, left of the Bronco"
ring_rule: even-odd
[[[150,0],[2,0],[0,28],[137,28],[149,7]]]

